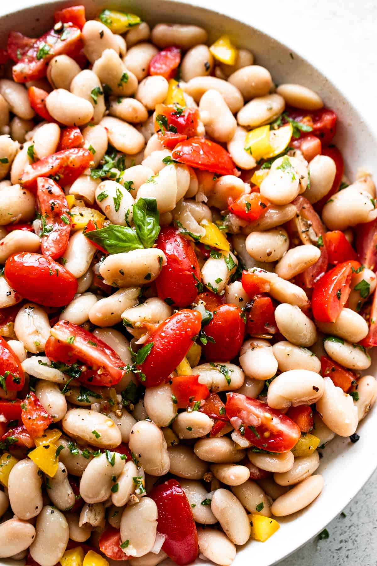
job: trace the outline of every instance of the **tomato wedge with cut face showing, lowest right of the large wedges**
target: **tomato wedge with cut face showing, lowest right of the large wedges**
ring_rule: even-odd
[[[300,428],[292,419],[277,409],[271,409],[266,403],[241,393],[227,393],[226,410],[231,424],[233,417],[241,419],[245,426],[245,438],[257,448],[271,452],[288,452],[301,436]],[[266,414],[272,415],[272,419],[266,417]],[[235,422],[235,425],[238,430],[241,423]],[[249,426],[255,427],[259,436],[255,435]],[[264,432],[270,432],[270,436],[266,438]]]

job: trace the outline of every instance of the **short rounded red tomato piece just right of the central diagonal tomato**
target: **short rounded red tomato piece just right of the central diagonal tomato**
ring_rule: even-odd
[[[222,305],[205,325],[204,332],[214,338],[202,345],[202,353],[207,362],[228,362],[240,351],[244,342],[246,325],[240,307]]]

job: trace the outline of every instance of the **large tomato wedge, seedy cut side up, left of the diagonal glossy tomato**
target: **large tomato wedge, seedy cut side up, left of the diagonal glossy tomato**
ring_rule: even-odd
[[[55,338],[55,340],[51,340]],[[59,320],[51,328],[51,336],[46,342],[46,356],[54,362],[67,362],[67,352],[70,351],[70,362],[77,360],[87,364],[94,370],[94,376],[89,383],[112,387],[123,378],[124,363],[115,351],[99,340],[91,332],[72,324],[68,320]],[[60,357],[60,352],[62,356]],[[81,374],[83,380],[85,373]]]

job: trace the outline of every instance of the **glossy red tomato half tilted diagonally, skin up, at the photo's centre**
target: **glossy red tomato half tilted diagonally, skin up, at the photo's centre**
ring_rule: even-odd
[[[150,353],[138,369],[145,375],[144,387],[155,387],[169,379],[200,332],[202,317],[187,308],[164,320],[151,333],[145,344],[153,342]],[[139,374],[137,374],[139,375]]]

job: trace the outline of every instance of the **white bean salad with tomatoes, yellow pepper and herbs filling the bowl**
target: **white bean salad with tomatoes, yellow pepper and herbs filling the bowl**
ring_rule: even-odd
[[[234,38],[54,22],[0,50],[0,558],[229,566],[375,402],[375,185]]]

